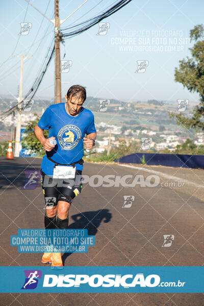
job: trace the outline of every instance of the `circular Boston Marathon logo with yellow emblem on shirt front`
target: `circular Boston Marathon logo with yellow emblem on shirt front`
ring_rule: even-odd
[[[76,125],[65,125],[58,133],[58,140],[64,150],[73,149],[82,137],[82,133]]]

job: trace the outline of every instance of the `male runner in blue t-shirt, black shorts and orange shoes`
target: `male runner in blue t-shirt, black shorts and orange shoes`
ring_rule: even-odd
[[[83,170],[83,143],[86,149],[91,149],[96,138],[93,113],[82,106],[86,100],[86,89],[80,85],[73,85],[69,88],[65,99],[66,103],[50,105],[34,129],[36,138],[46,150],[41,163],[41,181],[46,208],[45,229],[68,227],[69,208],[82,188],[81,181],[75,178],[76,175],[81,175]],[[49,130],[47,139],[43,135],[43,130]],[[85,134],[87,137],[84,137]],[[50,139],[55,139],[57,144],[55,146],[50,144]],[[74,171],[75,167],[73,184],[66,184],[64,180],[61,186],[62,179],[53,179],[53,175],[58,174],[63,165],[69,165],[63,168],[64,173]],[[60,184],[54,184],[55,187],[52,187],[53,180],[55,182],[59,180]],[[50,198],[52,198],[51,204]],[[51,262],[52,266],[62,266],[61,253],[44,253],[42,263]]]

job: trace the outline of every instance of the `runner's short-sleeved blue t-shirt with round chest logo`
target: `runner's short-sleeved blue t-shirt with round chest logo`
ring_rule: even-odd
[[[50,105],[38,122],[43,130],[49,130],[48,137],[55,137],[57,144],[52,151],[46,151],[41,169],[47,175],[53,175],[55,164],[47,156],[60,164],[79,161],[84,155],[83,141],[85,134],[95,133],[94,116],[90,110],[81,107],[78,116],[70,116],[65,110],[65,103]],[[59,165],[60,166],[60,165]],[[75,164],[77,170],[83,165]]]

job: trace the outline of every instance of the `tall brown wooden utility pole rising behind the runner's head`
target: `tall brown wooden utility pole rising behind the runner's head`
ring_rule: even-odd
[[[55,0],[55,104],[62,103],[59,0]]]

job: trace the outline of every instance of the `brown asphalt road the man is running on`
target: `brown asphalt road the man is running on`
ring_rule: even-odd
[[[40,181],[34,190],[23,189],[24,171],[39,170],[40,163],[41,159],[37,158],[0,158],[1,266],[42,266],[41,253],[18,253],[17,247],[10,245],[10,236],[17,235],[19,228],[44,226]],[[83,174],[89,176],[141,174],[145,180],[157,173],[160,185],[91,187],[84,184],[82,194],[70,208],[69,228],[87,228],[89,235],[95,235],[95,246],[89,247],[87,253],[64,254],[65,266],[203,265],[203,170],[134,166],[84,164]],[[184,186],[161,187],[161,182],[177,184],[178,179],[185,182]],[[152,183],[150,177],[146,183]],[[126,196],[135,199],[127,205]],[[162,247],[163,235],[174,235],[170,247]],[[2,293],[0,305],[197,306],[203,305],[203,294]]]

